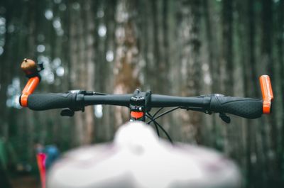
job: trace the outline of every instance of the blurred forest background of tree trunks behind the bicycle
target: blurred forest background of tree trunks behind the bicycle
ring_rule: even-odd
[[[62,153],[107,142],[129,118],[128,109],[100,105],[72,118],[21,109],[27,78],[20,65],[27,57],[45,67],[36,92],[140,88],[261,98],[258,77],[270,75],[271,116],[230,116],[226,124],[218,114],[180,110],[159,122],[175,141],[231,157],[243,187],[283,187],[283,45],[283,0],[1,0],[2,184],[7,178],[13,187],[39,186],[35,145],[56,145]]]

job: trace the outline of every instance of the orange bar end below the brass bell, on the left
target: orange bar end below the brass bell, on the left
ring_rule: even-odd
[[[21,95],[21,106],[28,106],[28,95],[32,94],[33,91],[35,91],[35,88],[38,86],[39,82],[39,77],[31,77],[30,79],[28,79],[28,83],[26,84],[26,87],[23,88],[23,92]]]

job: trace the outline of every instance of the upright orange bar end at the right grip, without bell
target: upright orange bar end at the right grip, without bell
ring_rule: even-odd
[[[268,75],[259,77],[261,83],[261,93],[263,98],[263,114],[271,113],[271,101],[273,101],[273,91],[271,87],[271,79]]]

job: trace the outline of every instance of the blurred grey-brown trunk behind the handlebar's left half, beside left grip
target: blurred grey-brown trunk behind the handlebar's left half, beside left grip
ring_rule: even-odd
[[[92,90],[94,87],[94,24],[92,1],[74,2],[70,10],[70,69],[72,88]],[[78,7],[78,8],[76,8]],[[80,63],[79,63],[80,62]],[[94,135],[94,109],[87,107],[85,113],[75,114],[76,145],[89,144]]]

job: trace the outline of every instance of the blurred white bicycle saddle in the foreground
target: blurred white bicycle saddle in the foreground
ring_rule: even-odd
[[[66,153],[50,170],[49,188],[240,187],[237,167],[196,145],[171,145],[142,122],[126,123],[113,143]]]

